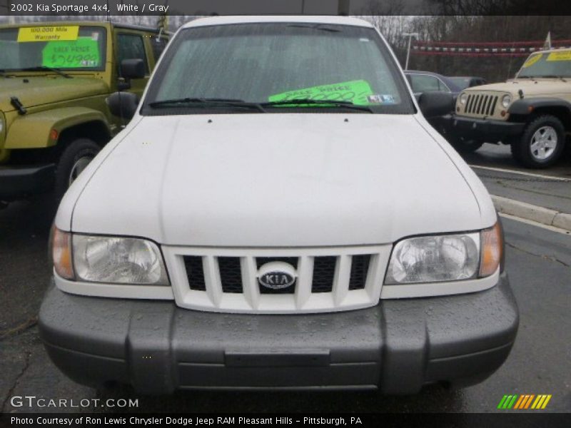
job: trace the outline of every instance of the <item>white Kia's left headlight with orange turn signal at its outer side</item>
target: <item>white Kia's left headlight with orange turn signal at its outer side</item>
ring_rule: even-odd
[[[53,254],[56,272],[67,279],[169,285],[161,250],[150,240],[70,235],[56,229]]]

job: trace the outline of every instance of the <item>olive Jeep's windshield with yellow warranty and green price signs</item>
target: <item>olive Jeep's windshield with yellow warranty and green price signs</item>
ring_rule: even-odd
[[[102,71],[106,31],[96,26],[32,26],[0,29],[0,70],[61,68]]]

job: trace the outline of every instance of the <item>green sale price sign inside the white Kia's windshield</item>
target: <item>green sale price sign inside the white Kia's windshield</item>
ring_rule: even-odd
[[[296,89],[277,93],[268,98],[268,101],[288,101],[295,99],[329,100],[329,101],[350,101],[353,104],[366,105],[368,96],[373,95],[368,81],[347,81],[334,83],[333,85],[312,86],[310,88]]]

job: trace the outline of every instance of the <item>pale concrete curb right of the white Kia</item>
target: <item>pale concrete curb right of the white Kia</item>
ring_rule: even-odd
[[[514,215],[515,217],[532,220],[543,225],[571,230],[571,214],[550,210],[549,208],[532,205],[502,196],[491,195],[495,208],[500,213]]]

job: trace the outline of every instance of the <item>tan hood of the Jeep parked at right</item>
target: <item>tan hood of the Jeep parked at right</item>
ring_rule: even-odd
[[[514,79],[502,83],[490,83],[489,85],[475,86],[474,88],[465,89],[465,92],[478,91],[498,91],[502,93],[511,93],[517,96],[520,89],[524,96],[551,96],[560,97],[564,93],[571,94],[571,79],[567,78],[567,82],[554,78],[530,78]]]

